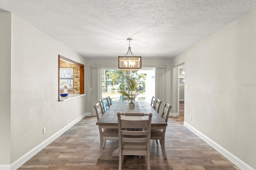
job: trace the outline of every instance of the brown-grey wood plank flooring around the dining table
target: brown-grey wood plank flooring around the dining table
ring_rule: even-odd
[[[18,170],[118,170],[112,152],[118,141],[106,141],[98,159],[100,137],[96,117],[84,117]],[[169,117],[165,160],[160,143],[151,140],[151,170],[239,170],[232,162],[183,126],[182,116]],[[125,170],[146,170],[144,157],[125,156]]]

